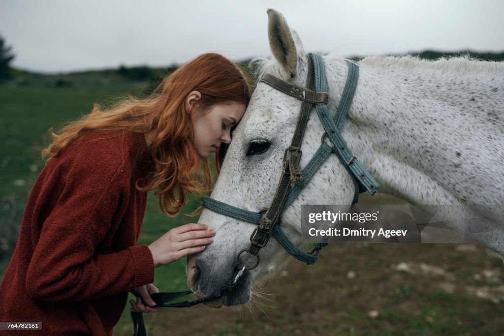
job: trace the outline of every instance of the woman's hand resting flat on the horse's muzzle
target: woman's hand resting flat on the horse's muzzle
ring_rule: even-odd
[[[154,259],[154,267],[180,259],[181,257],[203,251],[212,242],[214,230],[205,224],[185,224],[166,232],[149,245]]]

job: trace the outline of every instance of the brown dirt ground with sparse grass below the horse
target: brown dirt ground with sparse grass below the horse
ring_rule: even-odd
[[[248,306],[144,314],[148,334],[504,335],[504,265],[480,245],[333,243],[256,290]]]

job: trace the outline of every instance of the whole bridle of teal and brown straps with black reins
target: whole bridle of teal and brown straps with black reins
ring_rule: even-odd
[[[299,113],[291,145],[284,153],[280,181],[278,182],[270,207],[265,209],[266,213],[264,216],[264,211],[252,212],[240,209],[210,197],[205,197],[203,199],[202,206],[213,212],[257,225],[256,229],[250,236],[250,244],[247,248],[242,249],[237,255],[236,268],[233,272],[233,277],[231,277],[228,284],[223,287],[223,290],[221,290],[220,293],[194,301],[166,304],[166,302],[178,299],[191,293],[191,291],[152,294],[152,299],[157,303],[154,307],[191,307],[199,303],[213,301],[224,297],[232,290],[245,271],[252,270],[259,265],[259,251],[267,245],[271,236],[275,237],[275,239],[287,250],[287,252],[296,259],[304,261],[307,264],[315,263],[319,258],[321,249],[328,245],[330,237],[325,236],[311,252],[305,252],[297,247],[285,235],[279,224],[279,219],[285,209],[292,203],[296,196],[306,186],[311,177],[332,153],[338,157],[342,165],[352,177],[355,187],[352,206],[357,203],[359,193],[368,191],[371,195],[373,195],[378,190],[378,183],[355,158],[341,135],[343,123],[346,115],[348,114],[348,110],[355,93],[355,88],[357,86],[359,74],[357,64],[347,60],[347,81],[345,83],[345,88],[343,89],[335,117],[333,118],[327,108],[329,95],[327,93],[328,90],[324,60],[320,54],[316,53],[309,53],[307,55],[307,60],[308,74],[306,76],[306,85],[304,88],[285,82],[270,74],[263,75],[259,80],[260,82],[266,83],[286,95],[302,101],[301,111]],[[317,110],[317,114],[324,126],[325,132],[322,136],[321,146],[304,169],[301,170],[299,167],[302,154],[301,143],[309,114],[313,106],[315,106]],[[328,145],[326,142],[327,138],[332,143],[332,146]],[[247,253],[255,258],[255,262],[247,264],[247,262],[243,261],[242,255],[244,253]],[[135,335],[145,335],[146,333],[142,313],[132,312],[132,318],[135,327]]]

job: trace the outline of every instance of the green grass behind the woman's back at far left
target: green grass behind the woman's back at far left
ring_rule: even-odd
[[[89,113],[97,101],[141,89],[129,82],[71,88],[0,86],[0,196],[31,189],[44,165],[40,152],[50,141],[50,127]]]

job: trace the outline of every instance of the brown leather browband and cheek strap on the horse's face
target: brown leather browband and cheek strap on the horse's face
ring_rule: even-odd
[[[254,266],[246,266],[247,270],[250,270],[251,268],[254,268],[259,264],[258,253],[261,248],[266,246],[273,233],[273,227],[278,221],[282,208],[289,194],[291,182],[299,182],[302,180],[302,172],[301,168],[299,167],[299,162],[301,159],[301,143],[303,140],[304,131],[306,129],[306,124],[308,123],[309,114],[311,112],[311,109],[313,108],[313,104],[316,101],[327,103],[328,100],[327,93],[316,93],[314,91],[315,83],[313,76],[313,66],[313,58],[311,55],[308,55],[308,75],[306,76],[306,88],[300,88],[268,74],[264,75],[260,79],[261,82],[264,82],[289,96],[300,99],[302,101],[301,112],[299,113],[291,145],[285,150],[282,175],[280,176],[280,181],[278,183],[277,190],[275,191],[271,206],[266,212],[266,215],[259,222],[258,227],[256,227],[256,229],[250,236],[250,244],[248,245],[248,247],[239,252],[237,257],[237,268],[242,268],[244,266],[244,263],[240,259],[240,256],[245,251],[257,258],[257,263]]]

